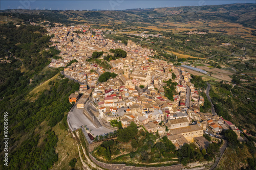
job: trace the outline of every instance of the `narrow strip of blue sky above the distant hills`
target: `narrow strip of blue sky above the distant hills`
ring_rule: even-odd
[[[48,9],[48,10],[125,10],[135,8],[159,8],[180,6],[203,6],[236,3],[254,3],[254,1],[217,1],[217,0],[188,0],[188,1],[136,1],[136,0],[80,0],[80,1],[46,1],[46,0],[0,0],[0,9]]]

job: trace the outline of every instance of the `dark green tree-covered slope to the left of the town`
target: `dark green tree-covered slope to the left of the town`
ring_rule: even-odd
[[[1,163],[0,169],[49,169],[58,160],[55,152],[58,137],[51,128],[61,120],[67,128],[64,113],[72,106],[68,96],[78,90],[79,84],[57,77],[49,83],[49,88],[31,96],[32,89],[59,72],[46,67],[50,52],[41,53],[49,46],[50,37],[45,32],[34,26],[16,28],[12,23],[0,26],[1,58],[11,60],[0,64],[0,108],[2,117],[8,112],[9,138],[8,166]],[[31,101],[33,97],[35,100]],[[0,127],[4,136],[3,119]],[[3,141],[1,138],[1,162]]]

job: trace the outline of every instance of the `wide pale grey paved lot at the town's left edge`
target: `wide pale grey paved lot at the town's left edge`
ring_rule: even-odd
[[[113,130],[105,128],[104,126],[101,126],[99,128],[96,128],[93,123],[86,117],[86,115],[83,114],[83,109],[77,109],[76,104],[75,106],[70,110],[69,113],[69,122],[71,125],[71,128],[73,130],[79,129],[80,126],[85,126],[89,130],[91,130],[91,133],[96,135],[101,135],[103,133],[109,133],[113,132]]]

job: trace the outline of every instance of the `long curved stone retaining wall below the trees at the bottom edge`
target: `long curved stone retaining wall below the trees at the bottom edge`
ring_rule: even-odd
[[[183,165],[178,164],[178,165],[173,165],[173,166],[161,166],[161,167],[136,167],[136,166],[126,166],[125,164],[109,164],[109,163],[103,163],[100,161],[97,161],[91,154],[89,154],[91,160],[99,165],[100,167],[106,168],[106,169],[138,169],[138,170],[144,170],[144,169],[152,169],[152,170],[165,170],[165,169],[170,169],[170,170],[180,170],[184,168]]]

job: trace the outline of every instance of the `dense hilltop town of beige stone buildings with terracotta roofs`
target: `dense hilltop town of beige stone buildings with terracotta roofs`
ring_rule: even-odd
[[[85,108],[91,99],[98,109],[94,116],[106,126],[110,126],[111,120],[120,121],[123,128],[134,122],[150,133],[167,135],[176,149],[190,142],[206,149],[209,142],[202,137],[204,133],[217,140],[220,132],[232,129],[240,137],[240,130],[229,121],[217,114],[200,112],[207,99],[199,91],[204,91],[195,88],[189,72],[183,68],[154,58],[153,50],[130,40],[124,45],[105,39],[102,33],[108,30],[89,26],[48,28],[48,32],[55,35],[52,46],[61,51],[61,59],[53,59],[49,66],[63,67],[77,61],[63,71],[63,75],[81,84],[79,92],[70,95],[70,102]],[[111,49],[127,53],[125,58],[109,60],[111,69],[88,61],[93,52],[104,52],[98,58],[101,60],[113,55]],[[98,78],[104,72],[117,76],[100,83]],[[166,97],[172,86],[172,96]]]

